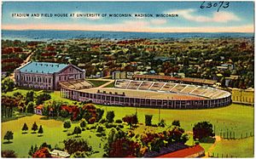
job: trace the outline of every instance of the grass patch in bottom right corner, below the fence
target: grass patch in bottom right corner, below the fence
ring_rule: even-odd
[[[222,139],[214,147],[214,156],[224,157],[227,155],[230,157],[253,157],[254,138],[247,139]]]

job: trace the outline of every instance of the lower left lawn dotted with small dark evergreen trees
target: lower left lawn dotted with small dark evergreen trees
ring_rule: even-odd
[[[63,132],[63,122],[55,121],[52,119],[44,120],[40,119],[43,116],[33,115],[19,118],[18,120],[13,120],[9,122],[2,123],[2,150],[15,150],[19,157],[28,157],[27,153],[30,149],[31,145],[41,145],[44,142],[50,144],[51,146],[55,146],[56,144],[63,147],[62,141],[67,138],[71,138],[73,136],[68,137],[67,133],[72,133],[73,128],[78,126],[79,123],[73,123],[72,128],[69,128],[68,132]],[[21,128],[26,122],[29,131],[28,133],[22,134]],[[37,122],[38,127],[40,125],[44,128],[44,133],[42,137],[38,137],[37,133],[32,133],[32,124],[33,122]],[[11,144],[3,144],[5,142],[3,140],[4,134],[8,131],[14,132],[14,139],[11,140],[13,143]],[[109,129],[108,129],[109,130]],[[100,153],[96,153],[94,157],[101,157],[103,155],[103,145],[105,141],[102,141],[101,138],[96,137],[96,133],[93,132],[96,130],[85,130],[80,134],[80,138],[87,139],[89,144],[93,147],[93,150],[100,151]],[[107,133],[108,134],[108,133]],[[102,145],[100,147],[99,145]]]

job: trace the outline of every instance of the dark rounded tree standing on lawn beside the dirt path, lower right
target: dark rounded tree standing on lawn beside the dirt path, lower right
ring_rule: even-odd
[[[198,122],[193,128],[193,139],[203,139],[207,137],[214,137],[215,134],[212,130],[212,124],[210,122]]]

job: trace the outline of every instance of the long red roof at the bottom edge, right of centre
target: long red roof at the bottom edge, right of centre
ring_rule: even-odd
[[[156,158],[170,158],[170,157],[183,158],[183,157],[188,157],[188,156],[194,155],[194,154],[199,153],[201,151],[205,151],[204,148],[202,148],[201,145],[195,145],[195,146],[192,146],[192,147],[185,148],[183,150],[177,150],[177,151],[167,153],[167,154],[162,155],[162,156],[157,156]]]

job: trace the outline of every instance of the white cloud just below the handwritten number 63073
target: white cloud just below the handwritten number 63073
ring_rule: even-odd
[[[204,16],[195,14],[195,9],[179,9],[179,10],[172,10],[173,14],[179,14],[186,20],[190,21],[197,21],[197,22],[221,22],[225,23],[228,21],[240,20],[236,14],[230,12],[215,12],[212,16]]]

